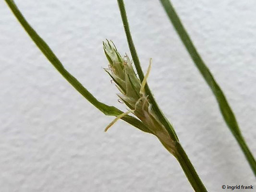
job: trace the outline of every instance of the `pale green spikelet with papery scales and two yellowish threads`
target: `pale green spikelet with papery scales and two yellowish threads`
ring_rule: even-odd
[[[152,104],[150,104],[144,89],[151,68],[151,59],[145,78],[143,82],[140,82],[127,54],[122,58],[112,41],[107,40],[106,42],[103,42],[103,48],[105,55],[109,60],[109,68],[105,68],[104,70],[110,75],[120,91],[120,93],[117,94],[119,98],[130,108],[129,111],[117,116],[107,126],[105,131],[123,116],[128,113],[133,113],[158,137],[161,143],[174,154],[174,151],[172,151],[172,149],[175,148],[174,142],[171,140],[170,135],[153,111]]]

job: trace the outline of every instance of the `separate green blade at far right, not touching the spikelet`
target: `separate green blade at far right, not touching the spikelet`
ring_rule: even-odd
[[[217,82],[214,80],[213,75],[207,68],[206,64],[200,57],[199,53],[197,52],[191,38],[189,37],[188,33],[186,32],[179,16],[175,12],[171,1],[170,0],[160,0],[172,25],[174,26],[176,32],[180,36],[185,48],[189,52],[192,60],[194,61],[196,67],[198,70],[201,72],[203,75],[205,81],[211,88],[213,94],[215,95],[219,108],[221,111],[221,114],[223,116],[223,119],[226,121],[226,124],[230,128],[232,134],[236,138],[236,141],[240,145],[241,149],[244,152],[244,155],[249,162],[255,176],[256,176],[256,161],[252,153],[250,152],[250,149],[248,146],[245,144],[244,138],[242,136],[242,133],[240,131],[240,128],[238,126],[237,120],[234,116],[234,113],[232,112],[232,109],[230,108],[228,101],[223,93],[223,91],[220,89],[219,85]]]

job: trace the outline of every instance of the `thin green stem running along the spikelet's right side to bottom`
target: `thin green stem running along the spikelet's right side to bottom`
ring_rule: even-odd
[[[123,3],[123,0],[117,0],[117,1],[118,1],[121,16],[122,16],[123,27],[124,27],[124,30],[125,30],[128,45],[129,45],[131,55],[132,55],[133,60],[134,60],[134,65],[135,65],[135,68],[138,72],[140,81],[142,82],[143,79],[144,79],[144,74],[143,74],[143,71],[141,69],[139,58],[137,56],[137,52],[136,52],[136,49],[135,49],[135,46],[134,46],[134,43],[133,43],[133,39],[132,39],[132,35],[131,35],[131,32],[130,32],[124,3]],[[146,94],[149,97],[150,102],[153,105],[153,110],[156,112],[156,114],[158,115],[158,118],[164,124],[164,126],[165,126],[166,130],[168,131],[168,133],[170,134],[171,138],[176,143],[177,154],[175,154],[174,156],[177,158],[181,167],[183,168],[183,171],[184,171],[187,179],[191,183],[195,192],[207,192],[203,182],[201,181],[201,179],[197,175],[197,173],[195,171],[195,168],[193,167],[193,165],[190,162],[188,156],[186,155],[185,151],[183,150],[181,144],[179,143],[179,139],[178,139],[173,127],[171,126],[171,123],[166,119],[166,117],[164,116],[164,114],[162,113],[160,108],[158,107],[157,102],[155,101],[155,99],[154,99],[154,97],[153,97],[153,95],[152,95],[152,93],[149,89],[149,86],[147,84],[145,86],[145,90],[146,90]],[[168,146],[166,146],[165,144],[163,144],[163,145],[166,147],[166,149],[168,151],[170,151],[170,152],[172,151],[171,149],[168,149]]]

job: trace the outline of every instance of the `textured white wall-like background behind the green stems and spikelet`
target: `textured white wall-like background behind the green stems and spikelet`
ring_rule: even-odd
[[[116,0],[17,0],[64,66],[100,101],[124,109],[102,70],[102,40],[129,53]],[[256,156],[256,1],[173,0]],[[216,100],[158,0],[126,0],[148,83],[209,192],[254,184]],[[149,134],[89,104],[0,1],[0,192],[191,192]]]

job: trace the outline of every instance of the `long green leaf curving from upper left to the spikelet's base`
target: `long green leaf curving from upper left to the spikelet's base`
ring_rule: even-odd
[[[105,115],[118,116],[123,112],[118,108],[113,106],[108,106],[104,103],[99,102],[72,74],[70,74],[62,65],[61,61],[56,57],[56,55],[49,48],[47,43],[37,34],[37,32],[28,24],[24,16],[15,5],[13,0],[5,0],[10,9],[12,10],[15,17],[18,19],[20,24],[24,27],[25,31],[35,42],[37,47],[42,51],[46,58],[51,62],[51,64],[61,73],[61,75],[70,83],[72,86],[84,96],[92,105],[98,108]],[[140,120],[126,115],[122,120],[130,123],[134,127],[137,127],[141,131],[152,133]]]

